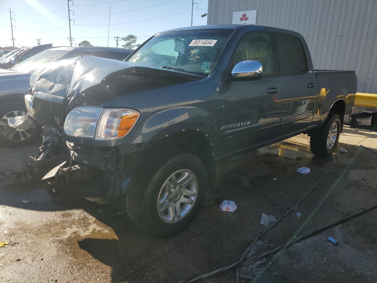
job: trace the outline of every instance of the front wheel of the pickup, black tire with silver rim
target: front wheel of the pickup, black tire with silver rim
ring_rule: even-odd
[[[207,189],[203,162],[177,155],[155,173],[139,174],[126,193],[127,212],[136,226],[155,235],[172,235],[194,219]]]

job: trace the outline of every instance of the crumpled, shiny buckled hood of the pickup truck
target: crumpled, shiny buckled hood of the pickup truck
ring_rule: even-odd
[[[30,85],[35,97],[63,103],[68,94],[79,94],[100,83],[107,75],[135,66],[94,56],[57,60],[35,71],[30,77]]]

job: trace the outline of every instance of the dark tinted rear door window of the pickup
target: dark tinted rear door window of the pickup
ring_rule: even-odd
[[[276,34],[280,74],[301,73],[307,69],[305,51],[300,40],[289,35]]]

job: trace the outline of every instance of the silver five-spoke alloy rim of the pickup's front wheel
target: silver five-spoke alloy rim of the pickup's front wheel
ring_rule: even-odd
[[[198,179],[188,169],[181,169],[164,182],[157,198],[159,217],[167,223],[175,223],[192,209],[198,195]]]

